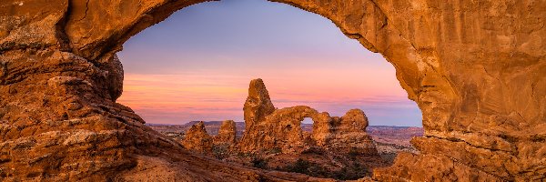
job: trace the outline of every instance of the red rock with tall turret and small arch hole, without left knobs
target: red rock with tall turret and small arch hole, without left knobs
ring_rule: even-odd
[[[265,94],[258,97],[257,93]],[[271,108],[275,107],[270,100],[263,80],[250,81],[244,107],[245,116],[270,114],[246,117],[248,120],[245,120],[245,124],[248,129],[238,143],[241,151],[262,152],[279,148],[284,154],[298,154],[317,146],[346,153],[352,150],[367,155],[378,154],[373,140],[366,133],[368,117],[363,111],[352,109],[342,117],[330,117],[327,112],[319,113],[309,106],[292,106],[273,109],[271,112]],[[313,132],[310,136],[306,136],[301,129],[301,122],[305,117],[313,119]]]

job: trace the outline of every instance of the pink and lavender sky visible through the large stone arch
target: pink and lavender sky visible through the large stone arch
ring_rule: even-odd
[[[118,56],[118,102],[147,123],[242,122],[248,83],[259,77],[278,108],[306,105],[331,116],[360,108],[370,125],[421,126],[393,66],[328,19],[289,5],[192,5],[132,37]]]

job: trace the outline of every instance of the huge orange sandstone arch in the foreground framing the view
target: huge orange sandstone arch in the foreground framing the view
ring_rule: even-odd
[[[0,177],[159,180],[158,171],[169,171],[161,177],[272,178],[275,174],[187,155],[115,103],[122,90],[115,55],[121,45],[200,2],[1,1]],[[278,2],[329,18],[385,56],[420,106],[425,136],[413,140],[420,155],[400,155],[394,166],[376,170],[376,179],[544,179],[545,3]],[[204,176],[199,168],[217,172]]]

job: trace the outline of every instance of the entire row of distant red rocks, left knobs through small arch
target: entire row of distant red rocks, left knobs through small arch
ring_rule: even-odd
[[[322,147],[339,153],[378,155],[373,139],[366,133],[368,117],[360,109],[351,109],[345,116],[329,116],[309,106],[276,109],[261,79],[250,81],[244,106],[247,130],[237,142],[237,128],[233,120],[222,123],[218,135],[207,134],[203,122],[187,131],[182,144],[188,149],[210,153],[213,145],[236,147],[239,152],[260,153],[272,148],[283,154],[300,154],[311,147]],[[310,117],[313,132],[301,128],[301,122]]]

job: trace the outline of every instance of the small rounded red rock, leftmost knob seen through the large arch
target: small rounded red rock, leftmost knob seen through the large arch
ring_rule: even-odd
[[[207,134],[205,124],[199,122],[191,126],[181,142],[182,146],[198,153],[210,153],[212,151],[213,138]]]

